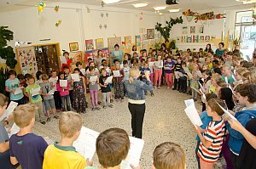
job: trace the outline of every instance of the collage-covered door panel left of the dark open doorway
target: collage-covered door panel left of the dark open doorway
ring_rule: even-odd
[[[20,68],[23,75],[32,74],[38,71],[37,59],[34,47],[16,48],[20,61]]]

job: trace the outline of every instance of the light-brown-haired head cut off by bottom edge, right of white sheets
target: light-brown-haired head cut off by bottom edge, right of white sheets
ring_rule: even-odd
[[[153,153],[154,169],[184,169],[186,168],[185,153],[178,145],[166,142],[158,145]]]

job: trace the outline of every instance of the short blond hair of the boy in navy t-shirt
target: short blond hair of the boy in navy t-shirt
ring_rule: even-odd
[[[14,121],[20,128],[27,127],[32,119],[35,118],[35,106],[32,104],[23,104],[15,108]]]

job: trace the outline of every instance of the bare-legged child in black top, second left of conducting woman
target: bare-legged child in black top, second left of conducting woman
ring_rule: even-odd
[[[108,78],[107,71],[104,68],[102,68],[101,72],[102,72],[102,76],[100,76],[99,84],[102,89],[103,109],[106,109],[107,106],[110,108],[113,108],[113,105],[110,104],[110,94],[111,94],[110,84],[105,83],[105,81]],[[107,103],[106,103],[106,100],[107,100]]]

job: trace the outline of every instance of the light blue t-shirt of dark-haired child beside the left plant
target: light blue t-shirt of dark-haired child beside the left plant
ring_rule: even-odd
[[[20,87],[20,81],[18,78],[15,78],[14,80],[8,79],[5,81],[5,86],[9,88],[9,90],[13,90],[15,88]],[[16,94],[15,93],[9,93],[10,100],[19,100],[24,97],[23,93]]]

